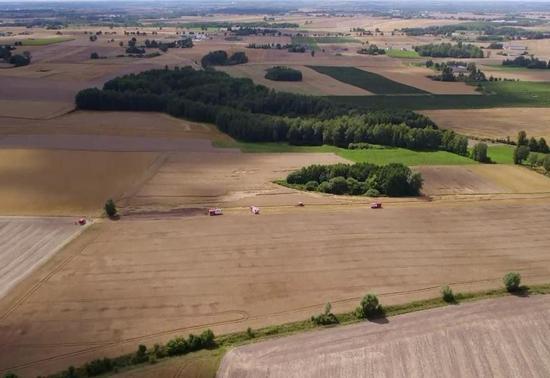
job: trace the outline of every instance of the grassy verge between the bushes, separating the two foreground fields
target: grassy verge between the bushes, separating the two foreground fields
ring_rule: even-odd
[[[478,292],[465,292],[455,294],[455,304],[474,302],[484,299],[499,298],[510,295],[544,295],[550,294],[550,284],[541,284],[533,286],[523,286],[517,293],[510,294],[505,288],[484,290]],[[416,311],[430,310],[434,308],[440,308],[448,306],[449,303],[445,302],[443,298],[431,298],[419,301],[408,302],[400,305],[392,305],[384,307],[384,317],[392,317],[397,315],[403,315]],[[328,327],[350,325],[365,321],[364,319],[357,318],[354,311],[336,314],[338,319],[337,325],[331,325]],[[315,329],[322,329],[325,326],[317,326],[310,320],[301,320],[296,322],[290,322],[280,325],[268,326],[259,328],[256,330],[247,330],[243,332],[234,332],[226,335],[216,337],[215,349],[202,350],[199,352],[189,353],[181,357],[167,358],[163,360],[163,364],[174,363],[178,367],[185,366],[185,369],[180,371],[185,376],[200,376],[200,377],[214,377],[219,364],[223,358],[223,355],[230,349],[241,345],[250,344],[258,341],[269,340],[274,337],[290,336],[293,334],[307,332]],[[134,365],[124,370],[141,369],[143,371],[153,372],[156,367],[151,365],[141,364]]]

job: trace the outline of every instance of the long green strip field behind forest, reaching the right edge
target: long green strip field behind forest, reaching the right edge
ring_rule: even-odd
[[[359,108],[481,109],[496,107],[549,107],[550,85],[534,81],[484,83],[482,95],[329,96],[339,104]]]

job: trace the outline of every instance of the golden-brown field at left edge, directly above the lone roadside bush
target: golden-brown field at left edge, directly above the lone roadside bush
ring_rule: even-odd
[[[0,214],[98,214],[153,166],[158,154],[0,149]]]

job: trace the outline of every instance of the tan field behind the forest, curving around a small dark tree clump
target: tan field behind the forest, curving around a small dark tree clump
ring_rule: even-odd
[[[266,69],[271,67],[273,67],[272,64],[246,64],[223,68],[220,67],[220,69],[232,76],[246,77],[252,79],[256,84],[265,85],[266,87],[283,92],[316,96],[365,96],[372,94],[364,89],[342,83],[341,81],[335,80],[327,75],[320,74],[311,68],[299,65],[291,65],[290,67],[302,72],[302,81],[291,82],[268,80],[264,76]]]

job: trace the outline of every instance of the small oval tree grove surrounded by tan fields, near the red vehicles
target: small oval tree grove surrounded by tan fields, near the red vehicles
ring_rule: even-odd
[[[422,176],[403,164],[369,163],[310,165],[290,173],[286,182],[306,190],[332,194],[364,195],[369,190],[392,196],[416,196]]]

